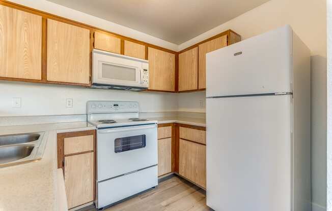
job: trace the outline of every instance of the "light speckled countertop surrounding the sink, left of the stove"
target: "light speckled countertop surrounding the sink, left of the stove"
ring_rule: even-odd
[[[87,122],[0,127],[0,135],[47,131],[41,160],[0,168],[0,210],[60,210],[57,173],[57,133],[95,129]]]

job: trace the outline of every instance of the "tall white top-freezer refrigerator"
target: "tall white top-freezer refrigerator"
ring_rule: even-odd
[[[206,55],[207,205],[309,211],[310,50],[289,25]]]

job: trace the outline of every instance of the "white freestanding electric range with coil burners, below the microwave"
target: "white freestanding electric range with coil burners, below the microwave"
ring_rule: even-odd
[[[97,127],[97,208],[158,185],[157,122],[139,118],[139,103],[88,101]]]

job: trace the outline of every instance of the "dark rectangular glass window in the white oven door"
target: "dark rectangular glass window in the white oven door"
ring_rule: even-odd
[[[115,153],[140,149],[146,146],[145,135],[116,138],[114,142]]]

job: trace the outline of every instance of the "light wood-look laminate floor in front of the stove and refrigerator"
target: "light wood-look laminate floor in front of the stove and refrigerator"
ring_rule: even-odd
[[[98,210],[92,205],[79,211]],[[137,195],[103,211],[205,211],[205,191],[174,176],[159,183],[158,187]]]

